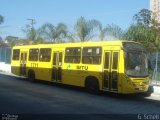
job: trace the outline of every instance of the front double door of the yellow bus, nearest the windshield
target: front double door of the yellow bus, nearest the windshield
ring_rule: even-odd
[[[105,51],[103,90],[118,92],[119,51]]]

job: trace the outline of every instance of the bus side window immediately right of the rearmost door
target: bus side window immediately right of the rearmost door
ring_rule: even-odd
[[[39,49],[30,49],[29,50],[29,61],[38,61]]]

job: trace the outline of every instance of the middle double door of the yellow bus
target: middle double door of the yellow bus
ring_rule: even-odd
[[[62,81],[62,52],[53,52],[52,80]]]

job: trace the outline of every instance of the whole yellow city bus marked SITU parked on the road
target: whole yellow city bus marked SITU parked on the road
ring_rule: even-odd
[[[129,41],[15,46],[11,71],[30,81],[80,86],[89,92],[146,93],[149,88],[146,51]]]

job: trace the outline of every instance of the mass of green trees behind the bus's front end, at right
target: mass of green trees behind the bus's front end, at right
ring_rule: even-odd
[[[151,19],[151,11],[142,9],[133,16],[134,23],[126,31],[117,25],[108,25],[107,34],[118,39],[142,43],[148,51],[160,50],[159,23]]]

